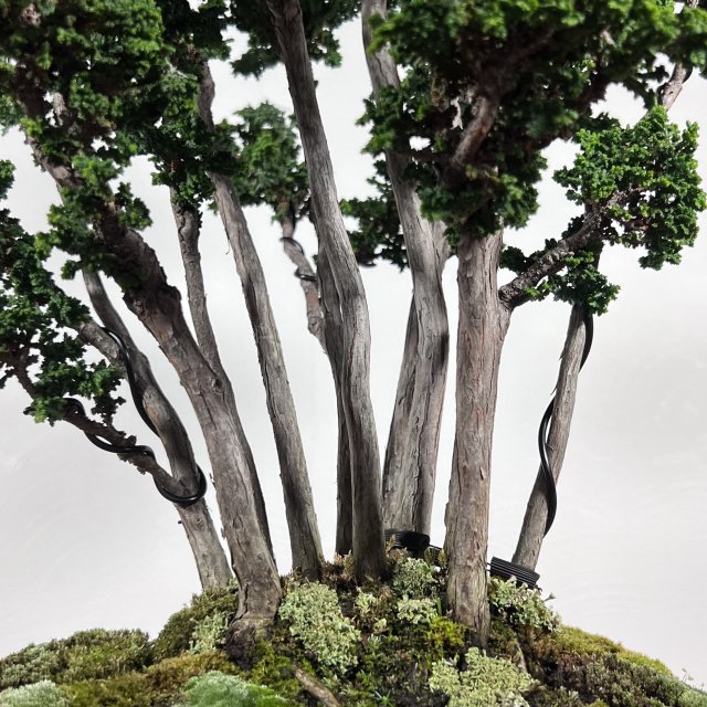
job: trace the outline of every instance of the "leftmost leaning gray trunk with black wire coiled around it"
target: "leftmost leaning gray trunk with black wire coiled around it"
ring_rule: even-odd
[[[173,476],[183,487],[183,490],[178,493],[179,495],[189,495],[194,492],[199,484],[197,464],[189,435],[177,411],[157,383],[149,360],[137,348],[125,323],[113,307],[101,277],[97,273],[87,271],[84,271],[83,275],[91,303],[98,318],[104,326],[115,331],[123,339],[128,349],[135,378],[143,393],[143,407],[157,429],[157,434],[165,447]],[[113,345],[113,341],[108,339],[108,344]],[[116,352],[112,350],[113,346],[106,349],[101,341],[94,341],[94,345],[114,365],[122,366],[120,358],[116,357]],[[179,514],[194,556],[201,585],[208,589],[226,584],[233,573],[219,540],[219,534],[207,507],[207,502],[202,498],[192,506],[175,505],[175,508]]]

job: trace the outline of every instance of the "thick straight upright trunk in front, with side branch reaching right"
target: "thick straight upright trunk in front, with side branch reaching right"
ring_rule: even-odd
[[[502,234],[458,244],[460,324],[456,355],[456,435],[446,514],[454,618],[486,645],[490,627],[486,598],[490,453],[498,367],[509,310],[498,299],[496,273]]]

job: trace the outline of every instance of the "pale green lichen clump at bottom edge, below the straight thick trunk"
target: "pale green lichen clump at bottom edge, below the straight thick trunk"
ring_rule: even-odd
[[[450,696],[450,707],[521,707],[534,679],[513,663],[469,648],[463,671],[447,661],[432,666],[430,687]]]

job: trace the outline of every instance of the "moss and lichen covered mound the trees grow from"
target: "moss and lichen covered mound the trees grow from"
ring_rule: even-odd
[[[493,579],[492,642],[473,646],[444,605],[445,573],[398,558],[359,587],[345,559],[321,583],[287,578],[245,661],[223,651],[238,604],[196,597],[149,642],[81,632],[0,659],[0,707],[707,707],[659,662],[561,624],[537,591]]]

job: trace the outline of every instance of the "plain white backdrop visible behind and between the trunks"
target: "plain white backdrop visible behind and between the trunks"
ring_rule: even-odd
[[[355,24],[342,31],[345,64],[317,67],[319,101],[338,177],[339,196],[361,196],[370,158],[362,113],[368,76]],[[215,65],[219,116],[264,98],[291,109],[281,70],[261,82],[239,81]],[[623,93],[610,93],[625,122],[642,112]],[[693,77],[673,117],[703,123],[707,84]],[[707,138],[699,151],[707,168]],[[548,151],[551,172],[571,159],[567,145]],[[56,199],[51,180],[32,165],[17,133],[0,139],[0,157],[17,165],[10,197],[30,231],[45,228]],[[129,178],[152,211],[146,238],[162,254],[170,282],[182,287],[181,265],[166,189],[150,184],[149,165]],[[542,207],[510,239],[531,249],[559,235],[572,208],[546,180]],[[308,456],[325,551],[334,548],[336,403],[330,372],[306,330],[304,300],[277,229],[265,210],[249,210],[285,350]],[[703,229],[705,220],[701,220]],[[312,230],[297,234],[316,252]],[[270,511],[281,572],[289,566],[277,458],[250,324],[220,222],[204,220],[209,303],[254,450]],[[678,675],[707,683],[707,243],[698,240],[679,267],[641,271],[637,254],[610,250],[603,267],[622,292],[595,321],[594,348],[581,374],[573,431],[558,487],[558,516],[538,570],[544,590],[566,623],[604,634],[661,658]],[[445,271],[451,329],[456,328],[456,262]],[[392,413],[410,302],[409,273],[379,265],[363,272],[372,328],[371,384],[381,452]],[[72,292],[77,285],[67,283]],[[118,296],[115,297],[116,302]],[[569,308],[552,302],[524,306],[511,323],[504,354],[494,444],[489,557],[510,559],[538,466],[537,425],[557,376]],[[136,338],[155,354],[166,390],[193,430],[201,465],[207,454],[183,391],[148,335],[130,315]],[[433,542],[444,539],[443,513],[452,457],[454,347],[439,462]],[[127,391],[124,393],[128,398]],[[93,447],[64,423],[38,425],[22,415],[28,401],[13,383],[0,394],[0,655],[30,642],[81,629],[140,627],[152,635],[199,591],[177,514],[149,478]],[[130,404],[118,425],[158,446]],[[210,493],[210,504],[215,503]],[[243,503],[249,503],[243,499]]]

